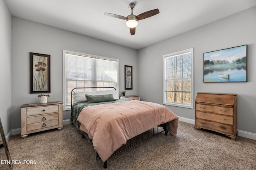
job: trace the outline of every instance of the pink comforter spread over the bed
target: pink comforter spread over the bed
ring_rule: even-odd
[[[178,130],[178,117],[170,109],[134,100],[84,107],[78,121],[80,130],[92,139],[94,149],[103,162],[128,139],[157,125],[169,122],[169,132],[173,136]]]

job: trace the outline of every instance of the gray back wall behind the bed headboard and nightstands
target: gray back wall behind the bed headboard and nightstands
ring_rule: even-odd
[[[39,102],[38,94],[29,92],[30,52],[51,55],[48,102],[63,100],[63,49],[119,59],[120,96],[124,90],[124,65],[133,66],[133,71],[138,72],[137,50],[12,16],[12,129],[21,127],[20,106]],[[128,95],[138,94],[137,74],[133,81],[133,90],[127,90]],[[64,111],[63,119],[70,119],[70,111]]]

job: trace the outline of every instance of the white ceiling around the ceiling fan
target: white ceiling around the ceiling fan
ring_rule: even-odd
[[[12,16],[141,49],[201,25],[256,6],[256,0],[5,0]],[[128,16],[158,8],[160,13],[140,20],[130,35],[125,20],[104,13]]]

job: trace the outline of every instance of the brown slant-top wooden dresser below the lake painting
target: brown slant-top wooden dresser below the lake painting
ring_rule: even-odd
[[[195,100],[195,129],[222,133],[236,141],[237,94],[198,92]]]

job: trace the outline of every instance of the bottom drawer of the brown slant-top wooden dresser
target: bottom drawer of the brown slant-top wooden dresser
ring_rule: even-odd
[[[207,121],[202,119],[196,119],[196,126],[204,128],[204,129],[214,129],[214,131],[219,131],[223,133],[231,133],[233,134],[233,127],[229,125],[224,125],[222,123],[217,123],[213,121]]]

